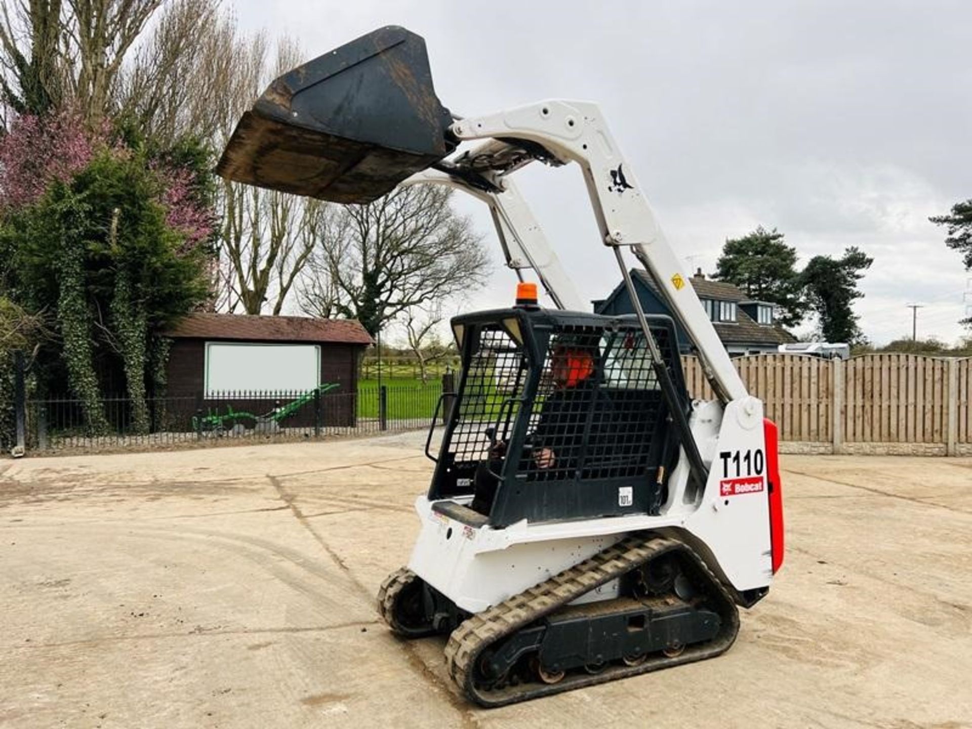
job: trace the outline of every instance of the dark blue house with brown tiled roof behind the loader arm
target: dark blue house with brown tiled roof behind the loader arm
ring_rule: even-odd
[[[633,269],[631,273],[644,312],[671,316],[672,312],[648,274],[641,269]],[[707,279],[701,269],[689,283],[730,355],[777,352],[781,344],[796,341],[796,337],[776,321],[772,303],[750,299],[738,287],[724,281]],[[594,301],[594,311],[608,315],[633,314],[635,309],[624,282],[618,284],[607,298]],[[678,348],[682,353],[690,352],[691,344],[685,332],[678,327],[677,332]]]

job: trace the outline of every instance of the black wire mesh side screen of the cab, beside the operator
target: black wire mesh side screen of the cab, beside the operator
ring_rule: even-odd
[[[669,330],[652,333],[672,367]],[[547,348],[518,470],[527,480],[641,476],[657,466],[664,414],[641,330],[564,327]]]

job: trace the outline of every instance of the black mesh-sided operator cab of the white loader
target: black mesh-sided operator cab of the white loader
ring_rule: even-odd
[[[647,319],[687,413],[674,323]],[[635,317],[518,305],[452,329],[462,372],[434,510],[494,528],[659,512],[677,436]]]

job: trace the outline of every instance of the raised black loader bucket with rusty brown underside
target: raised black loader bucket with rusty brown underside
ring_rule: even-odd
[[[394,25],[284,74],[236,125],[217,172],[333,202],[370,202],[455,149],[425,41]]]

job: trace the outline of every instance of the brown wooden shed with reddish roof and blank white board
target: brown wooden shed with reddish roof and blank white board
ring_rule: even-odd
[[[167,397],[193,398],[197,409],[262,413],[318,385],[327,425],[354,426],[358,363],[371,337],[355,320],[191,314],[165,332],[172,339]],[[313,424],[302,408],[288,425]]]

